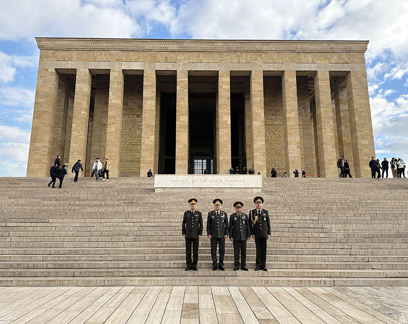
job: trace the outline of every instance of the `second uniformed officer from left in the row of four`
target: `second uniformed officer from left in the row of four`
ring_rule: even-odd
[[[221,210],[222,200],[214,199],[214,210],[208,213],[207,236],[211,239],[211,258],[213,270],[217,270],[217,244],[220,248],[218,269],[224,271],[225,239],[228,237],[227,213]]]

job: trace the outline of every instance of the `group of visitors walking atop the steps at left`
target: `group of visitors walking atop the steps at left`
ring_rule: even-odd
[[[60,168],[61,167],[61,168]],[[107,158],[105,158],[105,163],[102,165],[101,159],[97,157],[95,159],[95,162],[92,166],[92,174],[91,177],[95,174],[96,181],[99,181],[99,178],[102,177],[102,181],[109,181],[109,170],[111,167],[111,163]],[[79,171],[84,171],[84,168],[82,167],[81,160],[78,160],[75,162],[75,164],[72,166],[71,172],[75,173],[74,177],[74,182],[78,182],[78,173]],[[68,174],[66,170],[66,165],[61,166],[61,156],[57,155],[54,165],[51,166],[50,169],[50,176],[51,176],[51,181],[48,183],[48,187],[51,188],[56,188],[55,187],[55,182],[56,179],[59,179],[59,187],[62,187],[62,182],[64,181],[65,176]],[[106,179],[105,179],[105,174],[106,174]]]

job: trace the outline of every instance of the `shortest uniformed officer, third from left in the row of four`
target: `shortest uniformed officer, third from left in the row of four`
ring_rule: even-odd
[[[251,239],[251,230],[248,215],[242,212],[241,202],[234,204],[235,213],[231,214],[229,222],[229,237],[234,245],[234,271],[239,268],[239,250],[241,250],[241,269],[246,268],[246,241]]]

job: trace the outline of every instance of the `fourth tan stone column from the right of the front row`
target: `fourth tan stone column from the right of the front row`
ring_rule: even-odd
[[[255,70],[251,72],[251,117],[252,117],[252,150],[255,174],[261,172],[262,177],[266,177],[265,158],[265,113],[264,113],[264,92],[263,92],[263,71]]]

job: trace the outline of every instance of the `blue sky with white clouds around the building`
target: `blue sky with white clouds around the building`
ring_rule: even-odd
[[[25,176],[35,36],[369,40],[375,153],[408,160],[407,0],[0,0],[0,176]],[[334,163],[336,163],[334,161]]]

